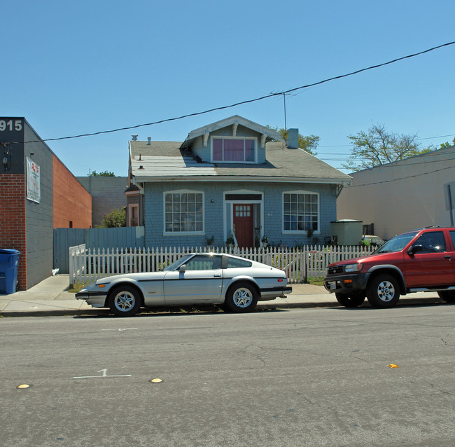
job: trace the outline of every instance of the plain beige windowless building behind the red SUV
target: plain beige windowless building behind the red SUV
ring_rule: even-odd
[[[390,239],[426,226],[454,226],[455,146],[353,172],[337,202],[338,219]]]

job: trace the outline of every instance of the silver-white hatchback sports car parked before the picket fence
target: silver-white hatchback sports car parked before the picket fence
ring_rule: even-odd
[[[221,304],[251,312],[258,301],[292,291],[283,270],[230,254],[191,253],[161,272],[130,273],[97,280],[76,294],[94,308],[130,317],[142,306]]]

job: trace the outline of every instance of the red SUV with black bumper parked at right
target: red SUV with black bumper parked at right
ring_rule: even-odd
[[[455,303],[455,228],[428,227],[395,236],[369,256],[330,264],[324,287],[346,307],[365,296],[375,308],[391,308],[400,295],[437,291]]]

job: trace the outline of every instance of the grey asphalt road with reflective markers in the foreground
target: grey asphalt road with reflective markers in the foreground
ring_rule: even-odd
[[[454,446],[454,317],[3,318],[0,445]]]

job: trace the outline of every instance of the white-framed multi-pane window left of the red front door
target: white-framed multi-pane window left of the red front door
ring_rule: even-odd
[[[165,233],[202,233],[204,194],[192,191],[165,193]]]

